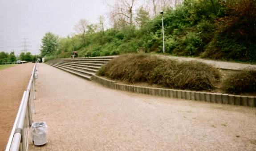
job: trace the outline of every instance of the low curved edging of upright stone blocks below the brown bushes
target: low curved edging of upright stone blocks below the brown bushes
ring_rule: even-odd
[[[162,89],[162,88],[150,88],[135,85],[125,85],[116,83],[116,81],[108,80],[104,77],[99,77],[97,75],[92,76],[92,81],[95,81],[103,86],[111,89],[117,89],[122,91],[149,94],[154,96],[171,97],[184,100],[192,101],[205,101],[211,103],[228,104],[228,105],[240,105],[256,107],[256,97],[239,96],[232,94],[223,93],[206,93],[206,92],[196,92],[188,90],[178,90],[178,89]]]

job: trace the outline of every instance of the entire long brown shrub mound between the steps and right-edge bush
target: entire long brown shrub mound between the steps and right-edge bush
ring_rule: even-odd
[[[177,62],[150,54],[124,54],[109,61],[98,74],[130,83],[148,82],[173,89],[212,89],[219,70],[202,62]]]

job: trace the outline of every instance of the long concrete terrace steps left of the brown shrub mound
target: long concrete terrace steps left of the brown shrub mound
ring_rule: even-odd
[[[97,70],[115,56],[90,58],[60,58],[50,60],[47,64],[65,70],[71,74],[91,80]]]

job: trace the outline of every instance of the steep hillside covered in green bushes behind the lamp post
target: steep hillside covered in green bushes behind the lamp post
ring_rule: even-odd
[[[167,54],[256,62],[256,0],[184,0],[164,12]],[[61,38],[57,58],[162,52],[162,16],[140,28],[120,27]]]

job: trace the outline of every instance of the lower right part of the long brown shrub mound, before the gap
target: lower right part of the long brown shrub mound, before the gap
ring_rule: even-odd
[[[177,62],[156,68],[151,81],[174,89],[213,89],[220,77],[219,70],[203,62]]]

